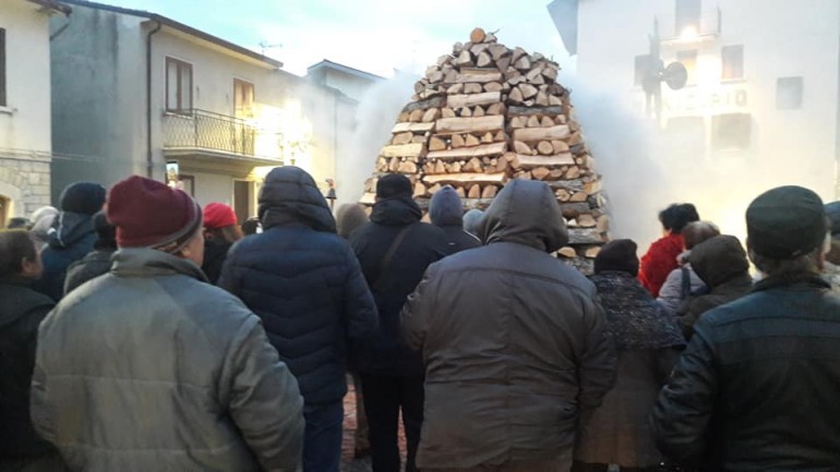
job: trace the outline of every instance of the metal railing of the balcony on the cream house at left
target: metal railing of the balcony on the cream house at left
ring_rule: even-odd
[[[164,116],[164,147],[194,147],[254,156],[256,128],[240,118],[190,109]]]

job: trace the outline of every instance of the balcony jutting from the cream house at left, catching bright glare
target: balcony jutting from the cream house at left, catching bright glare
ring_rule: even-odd
[[[279,129],[261,128],[253,120],[190,109],[164,114],[163,130],[167,157],[283,164]]]

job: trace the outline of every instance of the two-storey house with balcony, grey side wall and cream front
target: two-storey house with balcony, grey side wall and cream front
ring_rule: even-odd
[[[298,165],[335,177],[341,94],[279,61],[154,13],[70,0],[55,20],[53,195],[77,180],[167,180],[200,204],[256,214],[262,179]]]

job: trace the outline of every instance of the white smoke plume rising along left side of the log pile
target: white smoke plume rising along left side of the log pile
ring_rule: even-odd
[[[380,148],[387,144],[397,116],[413,94],[419,77],[395,72],[392,78],[369,88],[356,109],[355,120],[340,133],[348,136],[338,167],[338,204],[361,198],[364,181],[371,177]]]

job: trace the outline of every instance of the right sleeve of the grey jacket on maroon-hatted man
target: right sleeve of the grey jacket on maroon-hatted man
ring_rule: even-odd
[[[268,472],[296,471],[303,445],[303,399],[256,316],[240,329],[226,364],[231,374],[228,411],[249,448]]]

